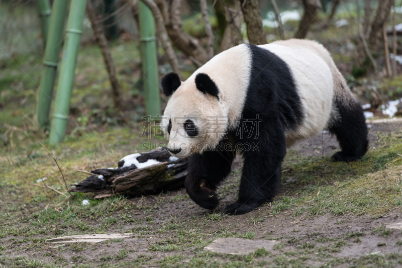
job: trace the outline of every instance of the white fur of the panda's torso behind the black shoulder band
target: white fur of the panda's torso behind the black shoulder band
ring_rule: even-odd
[[[333,110],[333,75],[323,58],[328,52],[314,41],[296,39],[259,47],[274,53],[287,64],[301,100],[304,119],[297,128],[286,132],[287,145],[320,133],[326,128]]]

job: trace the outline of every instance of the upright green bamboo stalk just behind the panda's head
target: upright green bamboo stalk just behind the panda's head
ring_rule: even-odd
[[[158,61],[156,59],[155,22],[151,10],[138,2],[144,98],[147,115],[160,114]]]

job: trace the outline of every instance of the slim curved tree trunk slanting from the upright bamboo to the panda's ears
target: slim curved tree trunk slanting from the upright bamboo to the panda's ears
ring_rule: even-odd
[[[170,44],[170,40],[167,35],[167,31],[160,10],[156,6],[155,2],[153,2],[152,0],[141,0],[141,1],[151,10],[154,20],[156,22],[158,37],[162,44],[163,49],[166,52],[167,60],[169,61],[169,64],[172,67],[173,71],[177,73],[177,75],[182,80],[183,76],[179,68],[179,62],[177,60],[176,54],[174,54],[173,47]]]

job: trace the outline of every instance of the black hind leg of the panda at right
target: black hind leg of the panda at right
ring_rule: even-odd
[[[329,127],[336,135],[341,151],[332,156],[334,161],[351,162],[360,159],[368,148],[367,125],[363,109],[355,99],[335,100],[337,118]]]

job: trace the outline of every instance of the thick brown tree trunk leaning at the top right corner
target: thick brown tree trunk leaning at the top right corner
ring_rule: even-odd
[[[371,51],[378,51],[381,43],[382,27],[388,20],[393,0],[379,0],[377,13],[371,24],[371,32],[368,37],[368,45]]]

